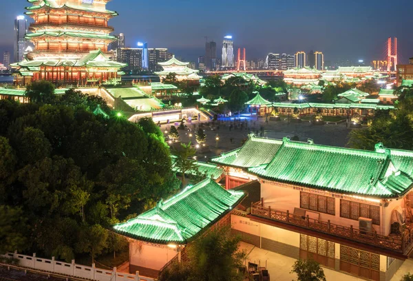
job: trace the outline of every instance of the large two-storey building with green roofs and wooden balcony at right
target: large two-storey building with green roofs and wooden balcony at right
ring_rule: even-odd
[[[231,227],[255,247],[371,280],[390,280],[413,246],[413,152],[374,152],[250,136],[212,159],[226,188],[262,198]]]

